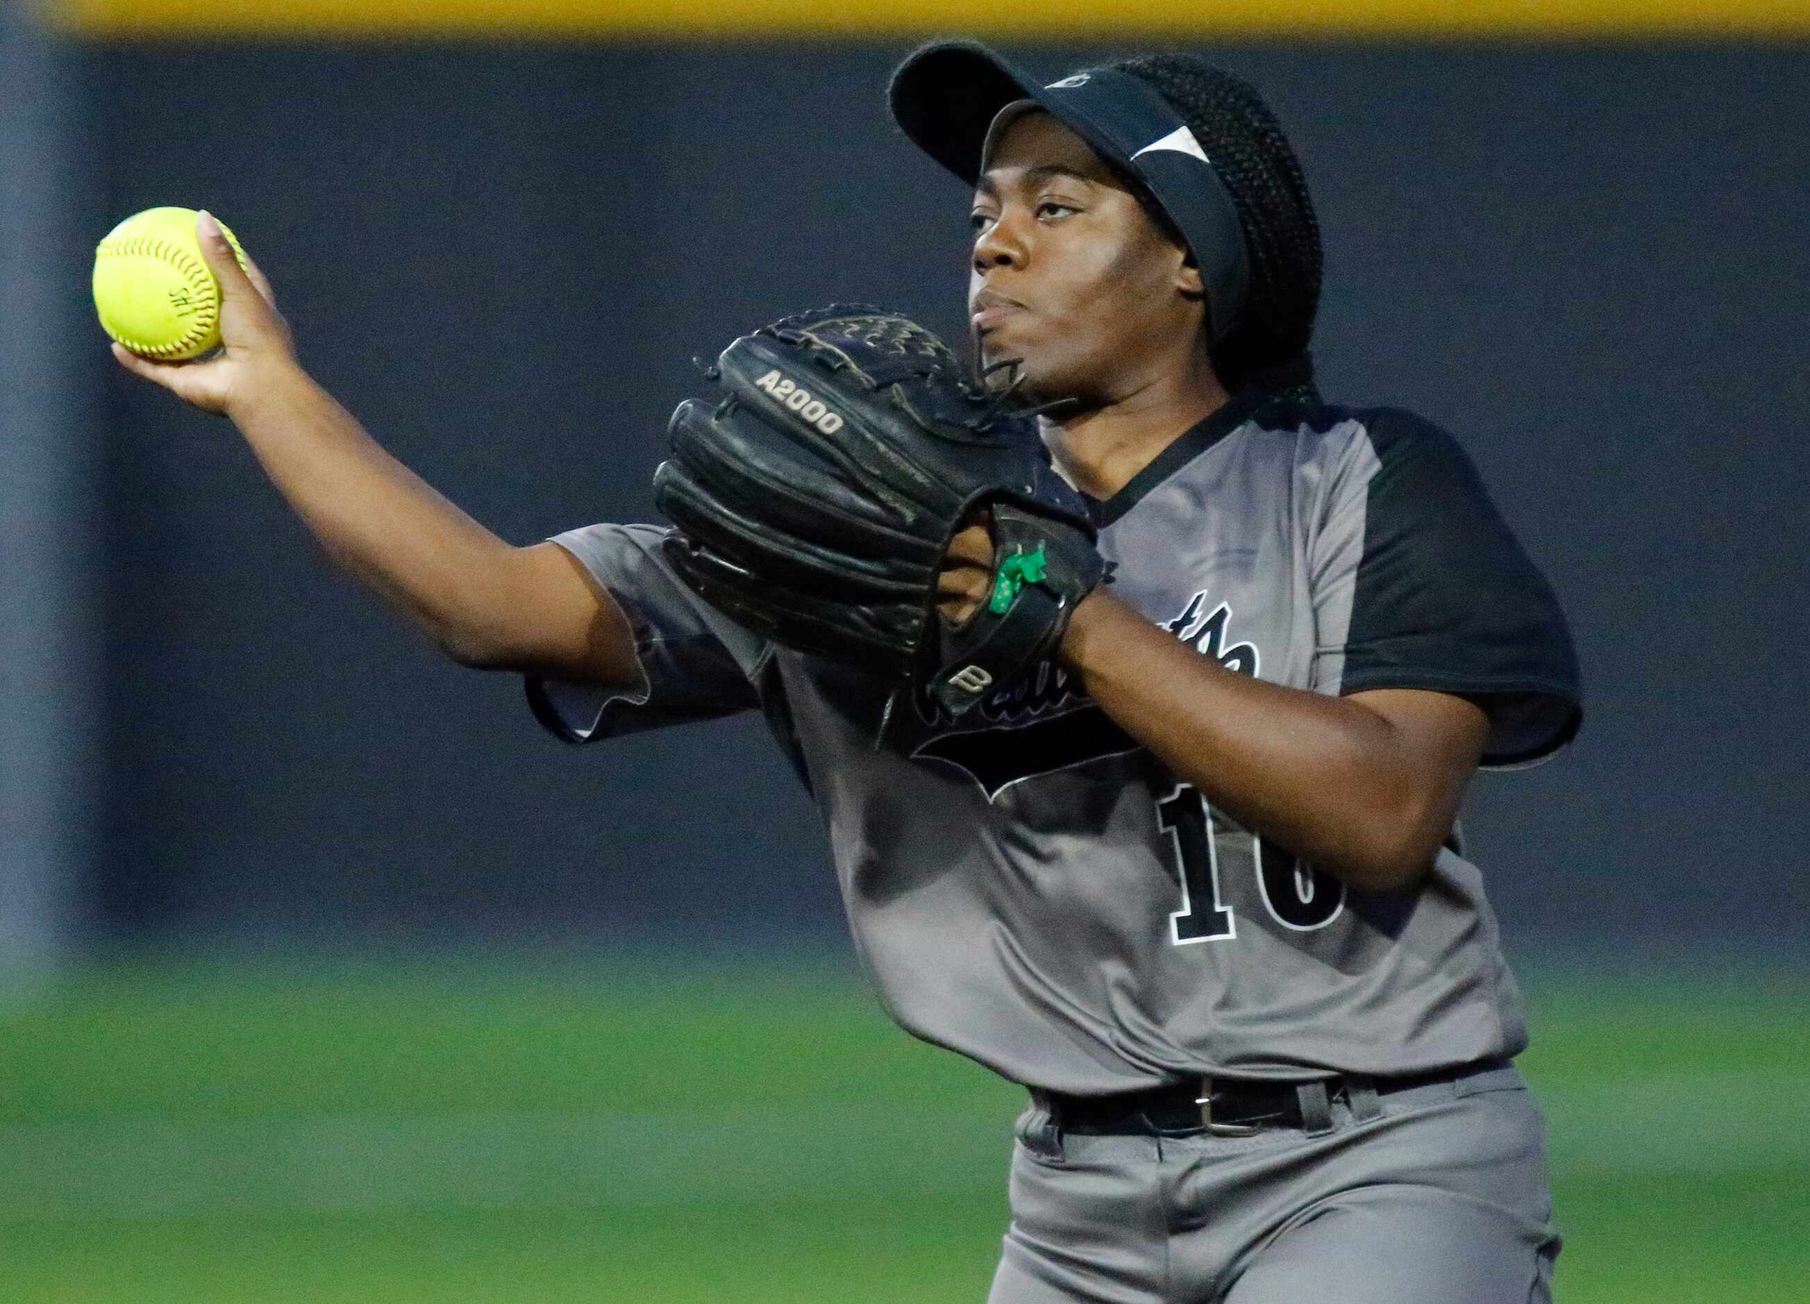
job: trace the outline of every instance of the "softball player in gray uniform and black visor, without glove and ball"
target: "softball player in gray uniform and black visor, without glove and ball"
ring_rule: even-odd
[[[1455,815],[1578,728],[1551,590],[1448,435],[1316,393],[1318,226],[1247,85],[936,45],[892,107],[972,187],[977,350],[1066,400],[1044,444],[1115,580],[1035,676],[878,748],[891,683],[737,627],[662,529],[512,549],[433,494],[206,219],[224,355],[121,362],[233,417],[337,558],[525,670],[561,737],[766,715],[892,1016],[1028,1088],[996,1304],[1546,1300],[1520,1000]],[[963,534],[952,619],[990,552]]]

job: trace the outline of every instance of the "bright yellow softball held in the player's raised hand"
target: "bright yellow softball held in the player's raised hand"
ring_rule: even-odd
[[[239,266],[244,250],[226,230]],[[194,208],[147,208],[94,250],[94,312],[134,353],[181,362],[221,342],[221,286],[195,239]]]

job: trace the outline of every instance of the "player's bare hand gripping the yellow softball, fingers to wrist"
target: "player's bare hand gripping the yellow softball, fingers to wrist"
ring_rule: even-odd
[[[295,366],[295,342],[290,324],[277,312],[270,281],[250,257],[244,268],[239,266],[212,214],[195,217],[195,235],[221,286],[221,350],[194,362],[157,362],[123,344],[114,344],[112,351],[127,371],[156,380],[203,411],[230,417],[237,404],[257,393],[259,377],[270,368]]]

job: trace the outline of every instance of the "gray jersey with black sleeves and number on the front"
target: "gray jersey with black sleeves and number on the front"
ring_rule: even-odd
[[[1113,592],[1227,670],[1462,694],[1486,764],[1578,724],[1551,590],[1457,444],[1399,411],[1240,395],[1099,505]],[[559,536],[617,596],[644,692],[530,681],[568,739],[760,710],[824,813],[854,940],[910,1032],[1048,1090],[1408,1074],[1526,1041],[1457,840],[1374,895],[1253,837],[1044,666],[959,723],[693,596],[662,531]],[[876,748],[876,737],[880,746]]]

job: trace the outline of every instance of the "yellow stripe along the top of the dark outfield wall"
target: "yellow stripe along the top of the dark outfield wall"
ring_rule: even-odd
[[[1805,36],[1810,0],[40,0],[81,36]]]

